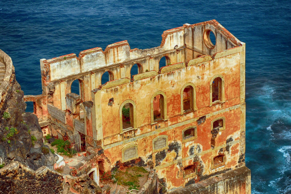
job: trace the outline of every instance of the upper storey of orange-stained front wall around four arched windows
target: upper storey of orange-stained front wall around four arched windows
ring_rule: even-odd
[[[225,81],[226,102],[220,106],[209,107],[210,80],[217,74],[222,75]],[[137,128],[139,128],[137,134],[151,131],[149,125],[151,120],[150,100],[156,91],[163,91],[166,94],[168,125],[187,120],[187,116],[180,116],[181,88],[187,83],[193,83],[196,86],[196,102],[199,110],[191,114],[192,118],[240,104],[240,53],[112,88],[101,89],[98,92],[101,92],[103,137],[120,133],[120,105],[129,99],[136,103]],[[108,106],[111,98],[114,98],[114,104]],[[176,116],[177,118],[174,118]],[[113,143],[115,140],[120,139],[114,138],[109,143]]]

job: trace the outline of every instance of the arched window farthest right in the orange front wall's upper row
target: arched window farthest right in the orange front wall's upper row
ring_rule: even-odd
[[[210,82],[210,106],[224,101],[224,79],[223,76],[216,75]]]

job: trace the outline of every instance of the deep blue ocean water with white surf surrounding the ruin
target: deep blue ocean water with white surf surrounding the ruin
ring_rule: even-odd
[[[0,0],[0,48],[24,93],[41,94],[39,59],[122,40],[151,48],[165,30],[210,19],[246,42],[252,193],[291,193],[290,1]]]

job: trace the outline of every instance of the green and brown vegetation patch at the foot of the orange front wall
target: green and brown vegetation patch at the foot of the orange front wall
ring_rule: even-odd
[[[143,167],[133,166],[127,168],[125,172],[120,171],[119,169],[114,171],[112,177],[115,182],[118,181],[117,184],[129,186],[129,190],[139,189],[139,177],[143,177],[147,173],[148,172]]]

